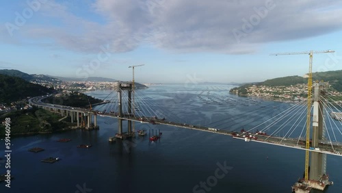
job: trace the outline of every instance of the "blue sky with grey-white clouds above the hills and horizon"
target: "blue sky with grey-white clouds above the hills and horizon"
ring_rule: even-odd
[[[29,3],[27,3],[29,2]],[[150,83],[263,81],[342,69],[342,2],[3,1],[0,68]]]

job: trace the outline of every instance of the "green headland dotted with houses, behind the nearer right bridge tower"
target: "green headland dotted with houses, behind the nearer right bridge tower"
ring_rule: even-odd
[[[313,73],[313,80],[324,80],[332,99],[342,100],[342,70]],[[231,93],[246,97],[266,97],[276,100],[304,100],[307,96],[308,77],[289,76],[267,79],[259,83],[246,83],[232,88]]]

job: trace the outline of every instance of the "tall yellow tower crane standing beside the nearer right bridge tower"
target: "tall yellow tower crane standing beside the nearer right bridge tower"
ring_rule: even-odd
[[[313,54],[314,53],[332,53],[335,51],[325,50],[325,51],[302,51],[302,52],[287,52],[287,53],[272,53],[270,55],[295,55],[295,54],[308,54],[308,110],[306,114],[306,143],[305,143],[305,181],[308,181],[308,156],[310,148],[310,126],[311,126],[311,90],[313,86]]]

